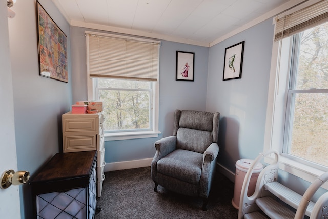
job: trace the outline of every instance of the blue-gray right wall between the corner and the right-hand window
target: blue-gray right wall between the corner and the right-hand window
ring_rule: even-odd
[[[210,48],[206,110],[221,113],[218,161],[232,172],[263,151],[273,28],[269,19]],[[242,41],[241,79],[223,81],[224,52]]]

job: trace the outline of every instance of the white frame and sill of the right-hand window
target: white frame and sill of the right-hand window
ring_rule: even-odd
[[[283,148],[286,140],[286,123],[289,122],[286,110],[291,107],[287,101],[290,98],[289,95],[291,96],[291,93],[295,92],[317,92],[315,90],[289,91],[293,58],[291,49],[295,43],[291,38],[273,42],[263,150],[277,150],[280,153],[279,169],[312,183],[318,176],[328,171],[328,168],[313,165],[313,162],[302,160],[299,157],[295,158],[293,155],[284,153]],[[293,66],[295,65],[293,64]],[[273,163],[274,157],[267,156],[264,161]],[[328,184],[325,183],[322,187],[328,189]]]

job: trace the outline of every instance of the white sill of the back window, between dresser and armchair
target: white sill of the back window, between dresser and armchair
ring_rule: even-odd
[[[158,137],[160,131],[104,133],[105,141]]]

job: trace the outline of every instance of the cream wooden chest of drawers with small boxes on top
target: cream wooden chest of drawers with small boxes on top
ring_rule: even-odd
[[[103,189],[105,138],[103,134],[103,112],[94,114],[72,114],[61,116],[63,123],[63,152],[97,151],[97,196]]]

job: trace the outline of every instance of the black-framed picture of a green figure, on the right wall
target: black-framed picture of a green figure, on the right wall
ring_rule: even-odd
[[[224,53],[223,81],[241,78],[245,41],[226,48]]]

